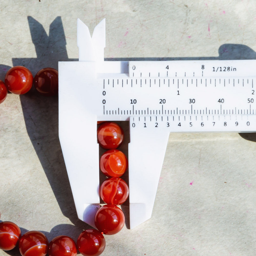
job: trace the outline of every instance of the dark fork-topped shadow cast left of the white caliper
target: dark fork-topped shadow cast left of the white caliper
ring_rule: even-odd
[[[33,17],[28,16],[28,24],[37,58],[13,58],[13,66],[25,66],[35,76],[42,68],[58,69],[58,61],[78,61],[78,59],[68,58],[65,33],[60,16],[56,17],[50,24],[49,36],[44,27]],[[1,68],[3,71],[8,70],[7,67],[0,65],[0,75],[2,75]],[[28,93],[20,95],[20,102],[27,133],[62,214],[69,218],[77,229],[89,228],[89,225],[77,218],[61,151],[58,137],[58,96],[44,97],[33,86]],[[42,209],[44,209],[44,204],[48,204],[44,201],[38,203],[42,204]],[[59,232],[62,230],[60,229]],[[70,230],[69,236],[77,239],[77,232]]]

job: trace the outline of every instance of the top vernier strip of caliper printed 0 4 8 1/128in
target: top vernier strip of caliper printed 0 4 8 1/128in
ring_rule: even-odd
[[[130,61],[129,77],[253,76],[254,60]]]

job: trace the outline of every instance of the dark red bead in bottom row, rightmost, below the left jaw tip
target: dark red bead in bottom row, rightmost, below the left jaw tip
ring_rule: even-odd
[[[77,248],[84,256],[98,256],[106,246],[105,238],[96,229],[84,230],[77,239]]]

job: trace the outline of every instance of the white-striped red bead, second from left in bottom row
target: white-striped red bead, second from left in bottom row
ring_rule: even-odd
[[[48,240],[40,231],[28,231],[19,240],[19,251],[22,256],[45,256]]]

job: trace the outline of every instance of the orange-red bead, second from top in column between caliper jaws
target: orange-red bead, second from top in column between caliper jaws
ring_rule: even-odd
[[[127,157],[118,149],[110,149],[100,157],[100,169],[107,177],[120,177],[127,168]]]

